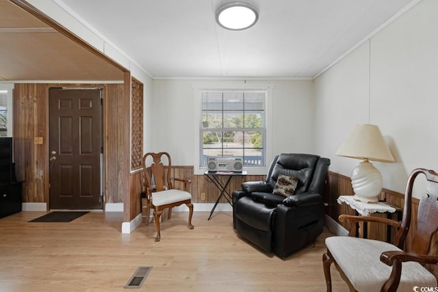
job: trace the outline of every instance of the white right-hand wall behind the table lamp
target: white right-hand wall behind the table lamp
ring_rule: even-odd
[[[331,158],[332,171],[350,176],[359,160],[335,152],[355,124],[368,122],[396,159],[373,163],[384,187],[403,193],[414,168],[438,170],[437,12],[438,1],[420,1],[315,79],[316,152]]]

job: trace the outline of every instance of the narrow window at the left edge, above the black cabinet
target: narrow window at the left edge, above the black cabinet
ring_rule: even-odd
[[[0,137],[12,137],[12,85],[0,84]]]

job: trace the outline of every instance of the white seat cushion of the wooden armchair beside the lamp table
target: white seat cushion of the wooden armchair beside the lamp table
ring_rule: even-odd
[[[357,237],[328,237],[327,249],[359,292],[381,291],[392,267],[382,263],[382,252],[400,250],[395,245]],[[437,279],[419,263],[402,263],[402,276],[397,291],[413,291],[413,287],[437,287]]]

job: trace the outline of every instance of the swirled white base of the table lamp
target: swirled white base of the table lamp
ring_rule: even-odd
[[[382,175],[370,161],[365,159],[352,171],[351,185],[356,200],[378,202],[383,187]]]

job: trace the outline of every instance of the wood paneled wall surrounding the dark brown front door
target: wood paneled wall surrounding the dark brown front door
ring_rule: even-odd
[[[129,72],[125,78],[130,79]],[[103,88],[105,200],[125,201],[131,165],[130,104],[125,98],[130,81],[127,84],[128,90],[125,84],[14,85],[14,160],[17,178],[24,181],[23,202],[49,202],[49,88],[53,87]],[[42,137],[43,144],[34,144],[34,137]]]

